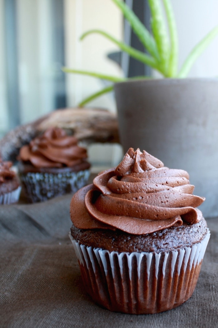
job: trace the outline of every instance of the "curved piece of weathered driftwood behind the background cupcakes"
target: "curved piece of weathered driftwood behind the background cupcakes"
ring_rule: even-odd
[[[115,113],[99,108],[64,108],[7,133],[0,140],[0,156],[3,160],[16,161],[20,148],[51,126],[65,129],[87,145],[119,143]]]

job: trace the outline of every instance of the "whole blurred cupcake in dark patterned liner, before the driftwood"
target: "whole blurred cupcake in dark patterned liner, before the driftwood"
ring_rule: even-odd
[[[63,129],[49,128],[20,149],[19,176],[30,202],[75,192],[87,184],[87,151]]]

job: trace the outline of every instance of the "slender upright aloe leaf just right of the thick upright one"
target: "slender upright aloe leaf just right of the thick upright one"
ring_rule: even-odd
[[[163,0],[163,5],[166,12],[166,18],[170,34],[170,57],[168,76],[173,77],[176,76],[178,66],[178,34],[171,2],[169,0]]]

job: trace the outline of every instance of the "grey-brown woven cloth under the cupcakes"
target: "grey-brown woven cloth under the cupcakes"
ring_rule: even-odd
[[[72,195],[0,206],[0,327],[218,327],[218,218],[193,296],[155,315],[113,313],[83,289],[68,233]]]

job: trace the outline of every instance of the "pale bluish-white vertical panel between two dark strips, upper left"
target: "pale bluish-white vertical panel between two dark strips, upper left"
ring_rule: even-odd
[[[51,1],[18,0],[17,33],[22,124],[54,109]]]

